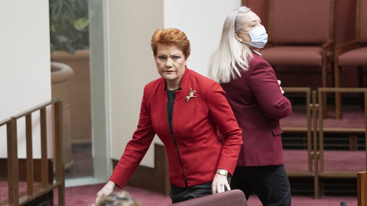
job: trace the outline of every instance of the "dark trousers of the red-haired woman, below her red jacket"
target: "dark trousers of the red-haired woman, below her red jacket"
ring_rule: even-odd
[[[228,184],[230,184],[231,178],[228,177],[227,180]],[[178,187],[171,184],[170,198],[172,203],[211,195],[211,183],[212,181],[192,187]],[[224,190],[227,191],[227,188],[224,188]]]

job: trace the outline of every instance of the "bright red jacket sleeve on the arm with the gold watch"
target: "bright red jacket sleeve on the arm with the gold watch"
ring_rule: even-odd
[[[209,116],[223,134],[223,146],[219,157],[218,169],[233,174],[242,144],[242,129],[239,128],[232,108],[225,98],[225,92],[215,81],[208,86],[207,104]]]

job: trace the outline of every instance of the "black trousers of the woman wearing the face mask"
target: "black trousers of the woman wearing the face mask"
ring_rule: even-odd
[[[254,192],[264,206],[291,205],[291,188],[284,165],[236,167],[230,187],[242,190],[246,199]]]

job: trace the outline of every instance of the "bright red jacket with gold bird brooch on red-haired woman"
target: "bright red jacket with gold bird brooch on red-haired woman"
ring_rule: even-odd
[[[177,148],[168,129],[166,81],[159,78],[147,84],[141,104],[138,129],[135,130],[110,180],[124,187],[152,143],[155,134],[162,140],[168,156],[170,182],[188,187],[212,181],[218,168],[233,174],[242,144],[239,128],[221,86],[195,71],[185,68],[181,89],[176,91],[172,129]],[[197,91],[189,102],[186,96]],[[223,134],[218,139],[217,128]]]

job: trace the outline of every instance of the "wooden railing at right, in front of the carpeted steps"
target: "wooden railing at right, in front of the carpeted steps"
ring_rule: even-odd
[[[283,90],[286,93],[305,93],[307,104],[306,128],[282,127],[282,130],[285,132],[291,131],[307,133],[308,171],[287,171],[287,175],[289,177],[313,177],[315,198],[320,198],[320,196],[323,194],[323,180],[320,178],[356,178],[356,172],[352,171],[325,171],[324,132],[364,133],[364,139],[366,142],[366,162],[364,164],[367,167],[367,88],[319,88],[317,91],[312,91],[312,96],[310,88],[283,88]],[[326,93],[363,93],[365,121],[364,128],[324,128],[324,107],[326,105],[324,101],[326,100]],[[310,96],[312,98],[310,98]],[[313,145],[311,145],[312,143]]]

